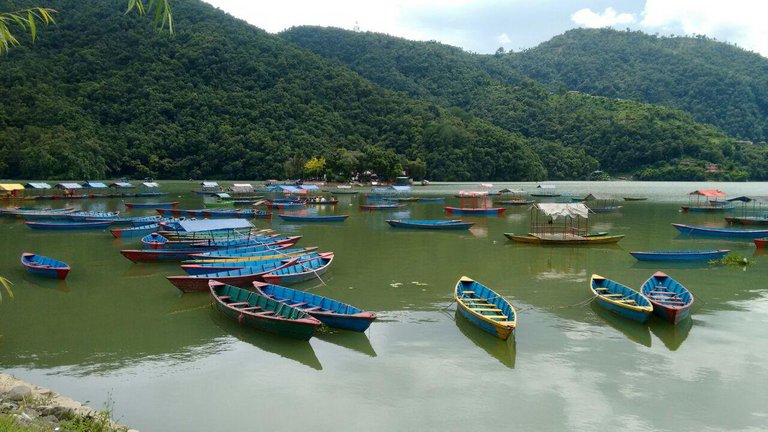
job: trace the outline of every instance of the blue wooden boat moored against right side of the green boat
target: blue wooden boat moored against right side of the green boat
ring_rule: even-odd
[[[328,327],[364,332],[376,314],[328,297],[264,282],[254,282],[256,292],[277,302],[303,310]]]

